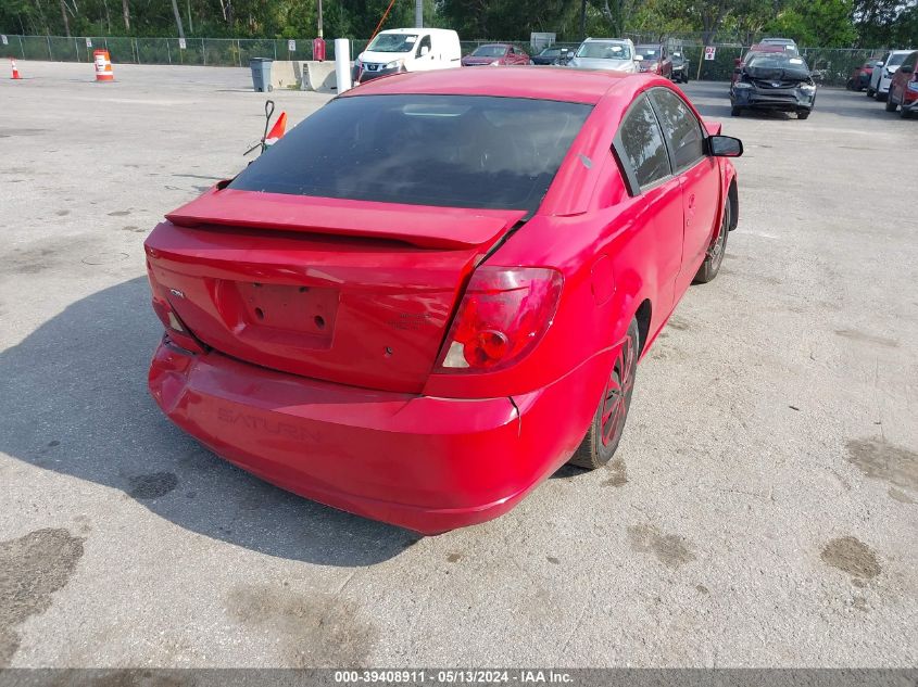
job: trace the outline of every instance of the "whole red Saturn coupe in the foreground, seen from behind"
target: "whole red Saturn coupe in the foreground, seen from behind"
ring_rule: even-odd
[[[614,454],[636,366],[737,225],[667,79],[448,69],[303,120],[146,242],[177,425],[307,498],[424,534]]]

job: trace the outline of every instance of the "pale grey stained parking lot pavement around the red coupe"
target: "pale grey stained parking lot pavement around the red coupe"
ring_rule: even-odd
[[[729,117],[740,222],[638,370],[612,466],[418,538],[160,414],[142,241],[247,162],[248,71],[0,81],[0,667],[914,666],[918,122]],[[275,92],[293,122],[327,97]],[[310,164],[304,157],[303,164]],[[493,456],[495,461],[502,456]]]

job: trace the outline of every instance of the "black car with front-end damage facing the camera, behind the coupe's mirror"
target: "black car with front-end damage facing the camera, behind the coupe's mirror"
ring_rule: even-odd
[[[790,52],[756,52],[746,55],[730,85],[730,114],[743,110],[795,112],[806,119],[816,103],[816,84],[803,58]]]

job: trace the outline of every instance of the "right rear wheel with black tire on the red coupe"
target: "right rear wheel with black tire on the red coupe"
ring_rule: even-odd
[[[606,465],[615,455],[625,431],[628,409],[631,407],[640,345],[638,320],[632,319],[621,348],[615,356],[602,398],[590,421],[590,429],[568,461],[571,466],[595,470]]]

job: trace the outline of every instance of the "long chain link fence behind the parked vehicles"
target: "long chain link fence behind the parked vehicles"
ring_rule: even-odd
[[[678,50],[690,61],[691,78],[705,80],[729,79],[735,61],[745,53],[749,44],[741,42],[716,43],[714,60],[704,60],[704,46],[695,35],[663,37],[655,34],[628,34],[636,43],[663,42],[670,51]],[[23,60],[50,60],[56,62],[92,62],[92,51],[108,50],[112,62],[122,64],[197,64],[211,66],[248,66],[250,58],[273,60],[312,60],[311,38],[187,38],[185,47],[178,38],[130,38],[81,36],[7,36],[7,43],[0,44],[0,56]],[[463,54],[473,52],[481,44],[492,42],[513,43],[530,52],[529,41],[466,40],[462,41]],[[351,59],[366,49],[367,40],[351,40]],[[571,53],[578,42],[558,42]],[[826,86],[844,86],[855,67],[881,50],[802,48],[801,55],[813,69],[814,78]],[[335,41],[326,42],[326,60],[335,59]]]

